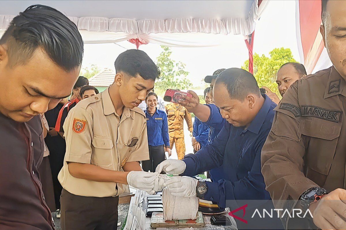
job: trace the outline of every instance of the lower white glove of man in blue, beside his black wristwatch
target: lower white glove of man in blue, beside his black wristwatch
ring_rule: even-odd
[[[165,183],[173,196],[195,197],[197,182],[198,180],[192,177],[172,177]]]

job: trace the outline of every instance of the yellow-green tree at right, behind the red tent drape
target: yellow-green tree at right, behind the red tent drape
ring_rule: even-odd
[[[297,62],[292,55],[291,49],[275,48],[269,52],[269,57],[254,54],[254,77],[258,86],[266,86],[281,98],[276,84],[276,72],[287,62]],[[244,62],[242,69],[249,70],[249,60]]]

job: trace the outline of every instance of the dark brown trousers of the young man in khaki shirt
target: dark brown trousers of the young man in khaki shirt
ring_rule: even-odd
[[[62,230],[115,230],[119,197],[82,197],[61,192]]]

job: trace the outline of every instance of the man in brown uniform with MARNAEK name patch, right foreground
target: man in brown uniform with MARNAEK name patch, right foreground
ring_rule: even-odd
[[[333,66],[292,84],[262,148],[262,173],[275,207],[309,208],[321,229],[346,229],[345,9],[346,1],[322,1],[321,33]],[[281,220],[286,228],[297,227],[297,218]],[[313,223],[301,219],[298,227],[314,229]]]

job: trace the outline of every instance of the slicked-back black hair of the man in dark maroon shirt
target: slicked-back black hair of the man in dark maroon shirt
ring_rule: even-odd
[[[8,44],[10,66],[25,64],[37,48],[66,71],[79,67],[83,58],[83,40],[76,25],[60,11],[32,5],[14,17],[0,39]]]

